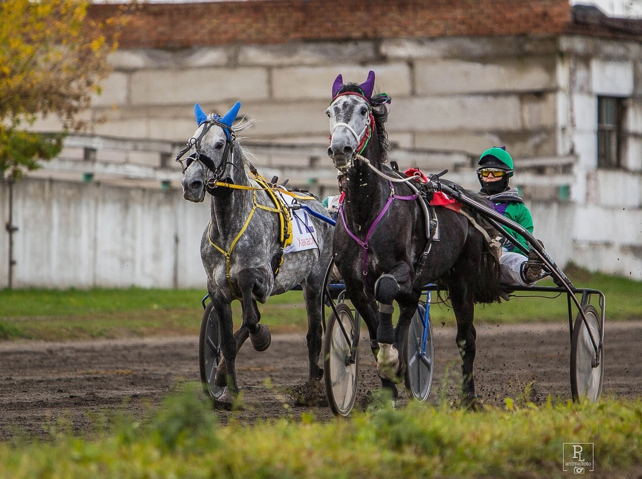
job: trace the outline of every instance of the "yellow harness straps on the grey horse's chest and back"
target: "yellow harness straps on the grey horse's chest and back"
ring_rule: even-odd
[[[230,290],[232,290],[232,294],[234,294],[234,297],[238,299],[239,301],[242,301],[242,299],[236,294],[236,291],[234,290],[234,286],[232,285],[232,278],[230,276],[230,258],[232,256],[232,250],[234,249],[234,246],[236,246],[236,243],[238,242],[239,239],[241,239],[241,236],[243,236],[243,233],[245,233],[245,230],[247,230],[248,225],[250,224],[250,220],[252,219],[252,216],[254,216],[254,212],[256,211],[256,208],[261,208],[261,210],[266,210],[266,211],[271,211],[273,213],[277,213],[279,215],[279,241],[281,242],[281,250],[286,249],[286,247],[290,246],[292,243],[292,220],[290,217],[290,214],[286,210],[286,205],[284,201],[282,201],[279,196],[275,195],[273,190],[269,187],[267,181],[265,181],[265,178],[261,176],[260,174],[257,174],[257,176],[254,178],[259,185],[263,186],[263,188],[255,188],[255,187],[245,187],[242,185],[229,185],[228,183],[216,183],[217,186],[227,186],[229,188],[236,188],[236,189],[242,189],[242,190],[252,190],[252,209],[250,210],[250,214],[248,215],[247,219],[245,220],[245,224],[243,224],[243,228],[241,228],[241,231],[238,232],[234,240],[232,240],[232,244],[230,245],[229,251],[225,251],[223,248],[220,248],[214,242],[212,241],[210,237],[210,230],[212,228],[212,221],[210,220],[209,224],[207,225],[207,240],[209,240],[209,244],[214,246],[218,251],[220,251],[221,255],[225,256],[225,268],[226,268],[226,273],[225,273],[225,278],[227,278],[227,283],[230,286]],[[265,190],[268,192],[268,195],[270,195],[270,198],[272,198],[272,201],[274,202],[274,205],[276,208],[270,208],[270,206],[263,206],[259,205],[256,201],[256,190]],[[287,193],[290,194],[290,196],[295,196],[294,194],[291,194],[288,191],[284,191],[279,189],[279,192],[282,193]],[[295,196],[295,197],[300,197],[301,199],[314,199],[311,196]],[[281,262],[279,262],[279,265],[277,265],[275,271],[274,271],[274,276],[279,274],[279,268],[283,264],[283,255],[281,251]]]

